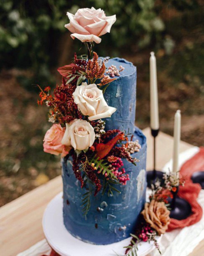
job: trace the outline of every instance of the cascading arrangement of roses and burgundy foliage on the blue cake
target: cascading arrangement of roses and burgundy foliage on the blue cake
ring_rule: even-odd
[[[98,58],[93,51],[94,42],[110,32],[116,17],[107,17],[101,9],[79,9],[75,15],[67,13],[70,23],[65,25],[88,48],[88,54],[74,55],[73,63],[59,67],[62,83],[51,94],[48,86],[40,88],[38,104],[49,108],[49,121],[52,127],[44,137],[44,151],[54,155],[61,154],[65,163],[72,158],[75,177],[85,189],[82,199],[83,214],[90,209],[90,195],[102,190],[102,194],[113,196],[118,184],[126,185],[129,175],[123,168],[124,159],[136,164],[131,153],[139,151],[138,142],[133,143],[133,135],[118,129],[105,131],[104,118],[115,111],[104,98],[106,88],[120,76],[123,66],[110,66],[106,69],[108,58]],[[95,188],[93,189],[93,186]]]

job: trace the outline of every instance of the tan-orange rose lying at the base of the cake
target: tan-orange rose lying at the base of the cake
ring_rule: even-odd
[[[154,199],[150,203],[145,203],[145,209],[141,212],[145,221],[155,229],[159,235],[164,234],[170,223],[170,211],[164,202],[158,202]]]

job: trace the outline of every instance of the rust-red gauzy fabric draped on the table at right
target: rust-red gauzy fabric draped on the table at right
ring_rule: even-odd
[[[180,170],[180,175],[185,179],[184,187],[180,186],[178,196],[188,201],[192,208],[192,214],[182,220],[171,219],[167,231],[174,230],[176,228],[183,228],[199,222],[202,217],[203,211],[197,197],[201,190],[201,186],[198,183],[191,181],[191,175],[197,171],[204,170],[204,148],[200,148],[199,152],[196,153],[192,158],[186,161]]]

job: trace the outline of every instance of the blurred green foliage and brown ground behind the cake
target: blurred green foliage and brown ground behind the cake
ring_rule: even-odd
[[[57,67],[69,64],[75,51],[85,53],[64,25],[67,11],[92,6],[117,18],[96,52],[137,66],[136,124],[143,129],[150,122],[154,50],[161,130],[173,135],[173,116],[180,108],[181,139],[204,144],[202,0],[0,0],[0,206],[61,172],[60,156],[43,151],[52,124],[46,106],[36,104],[35,85],[54,88],[60,82]]]

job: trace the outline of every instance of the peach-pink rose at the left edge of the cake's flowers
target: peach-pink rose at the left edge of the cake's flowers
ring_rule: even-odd
[[[61,140],[65,134],[65,127],[62,128],[60,124],[53,124],[52,127],[46,132],[44,137],[43,148],[44,152],[59,155],[62,157],[66,156],[71,147],[62,145]]]

